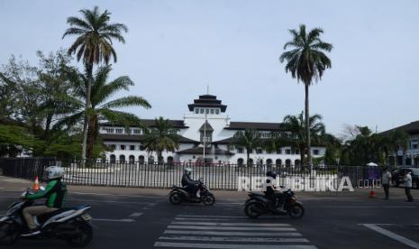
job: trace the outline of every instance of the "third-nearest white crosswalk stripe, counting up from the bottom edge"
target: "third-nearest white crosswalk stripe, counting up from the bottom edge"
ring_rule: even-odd
[[[230,235],[230,236],[279,236],[300,237],[300,233],[252,233],[252,232],[216,232],[196,230],[165,230],[163,234],[170,235]]]

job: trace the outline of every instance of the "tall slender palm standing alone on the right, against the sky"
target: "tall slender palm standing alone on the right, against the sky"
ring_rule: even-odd
[[[332,68],[332,61],[324,54],[324,51],[332,51],[332,44],[320,39],[320,35],[323,33],[320,28],[314,28],[307,33],[305,25],[301,24],[299,31],[293,29],[289,32],[292,35],[292,40],[285,43],[284,50],[287,50],[288,47],[291,50],[282,53],[279,60],[281,63],[287,60],[286,72],[290,71],[292,78],[296,78],[297,82],[301,80],[305,84],[307,158],[308,164],[312,167],[310,130],[308,129],[310,116],[308,88],[314,83],[314,79],[317,81],[322,78],[325,69]]]

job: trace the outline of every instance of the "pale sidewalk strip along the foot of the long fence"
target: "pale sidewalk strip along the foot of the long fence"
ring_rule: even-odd
[[[31,188],[33,182],[29,180],[14,179],[0,176],[0,192],[15,191],[21,192],[24,189]],[[297,198],[369,198],[370,188],[354,189],[353,192],[296,192]],[[376,197],[384,198],[384,190],[377,188]],[[123,187],[96,187],[96,186],[76,186],[68,185],[70,193],[84,193],[96,195],[114,195],[114,196],[132,196],[132,197],[166,197],[169,189],[144,189],[144,188],[123,188]],[[245,191],[214,190],[212,191],[217,198],[247,198]],[[419,198],[419,190],[412,189],[412,195],[415,199]],[[405,198],[405,189],[391,188],[390,198]]]

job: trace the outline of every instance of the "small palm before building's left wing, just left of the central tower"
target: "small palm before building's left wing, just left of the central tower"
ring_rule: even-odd
[[[175,152],[179,148],[178,129],[175,129],[169,119],[162,116],[155,119],[155,125],[146,130],[143,146],[147,152],[156,152],[157,160],[162,162],[161,154],[163,151]]]

